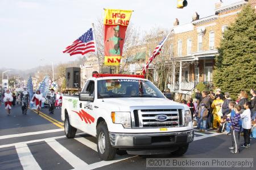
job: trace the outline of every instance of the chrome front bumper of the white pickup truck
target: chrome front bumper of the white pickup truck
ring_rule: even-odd
[[[121,149],[161,148],[167,146],[180,146],[193,141],[194,131],[121,134],[109,132],[110,142],[113,147]]]

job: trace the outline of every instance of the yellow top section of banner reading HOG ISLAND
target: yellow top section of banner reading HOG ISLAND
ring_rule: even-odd
[[[128,26],[132,12],[131,10],[105,9],[104,24]]]

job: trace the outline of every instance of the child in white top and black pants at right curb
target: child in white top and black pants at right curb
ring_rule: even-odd
[[[243,139],[245,139],[245,143],[241,145],[241,147],[249,147],[250,144],[250,129],[251,129],[251,111],[250,111],[250,102],[245,102],[243,107],[245,111],[241,114],[242,118],[242,128],[243,128]]]

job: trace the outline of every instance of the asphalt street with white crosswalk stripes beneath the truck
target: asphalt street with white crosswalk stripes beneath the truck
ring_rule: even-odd
[[[146,167],[146,159],[174,158],[172,155],[117,155],[113,161],[101,161],[97,155],[96,138],[77,131],[75,139],[64,136],[60,109],[49,115],[42,109],[39,115],[28,110],[23,115],[20,106],[14,106],[7,115],[0,106],[0,169],[166,169]],[[240,154],[231,154],[229,135],[195,131],[195,140],[180,158],[254,158],[256,167],[256,140]],[[240,142],[243,142],[241,136]],[[170,168],[168,168],[170,169]],[[224,169],[224,168],[171,168]],[[238,169],[238,168],[235,168]],[[254,168],[239,168],[254,169]]]

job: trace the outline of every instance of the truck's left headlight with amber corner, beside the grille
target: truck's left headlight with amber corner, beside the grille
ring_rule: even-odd
[[[122,124],[124,128],[131,128],[131,113],[129,111],[112,111],[113,123]]]

